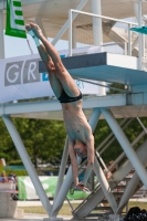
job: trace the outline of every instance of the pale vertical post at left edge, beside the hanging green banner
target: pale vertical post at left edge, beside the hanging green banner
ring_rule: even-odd
[[[4,59],[3,15],[0,10],[0,59]]]

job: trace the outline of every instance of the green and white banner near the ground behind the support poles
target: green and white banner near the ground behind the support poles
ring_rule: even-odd
[[[46,196],[50,198],[54,198],[55,187],[57,183],[57,177],[39,177]],[[30,177],[18,177],[18,188],[19,188],[19,199],[20,200],[32,200],[39,199],[38,193],[33,187],[33,183]],[[67,198],[70,200],[84,199],[88,196],[88,193],[83,191],[72,191],[70,190],[67,193]]]

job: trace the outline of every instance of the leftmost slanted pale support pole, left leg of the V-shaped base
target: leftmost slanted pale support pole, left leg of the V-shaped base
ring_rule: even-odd
[[[24,165],[24,167],[25,167],[25,169],[27,169],[27,171],[28,171],[28,173],[29,173],[29,176],[30,176],[30,178],[33,182],[33,186],[34,186],[34,188],[35,188],[35,190],[36,190],[36,192],[40,197],[40,200],[41,200],[44,209],[46,210],[48,214],[50,215],[51,210],[52,210],[52,206],[51,206],[51,203],[50,203],[50,201],[46,197],[46,193],[45,193],[45,191],[44,191],[44,189],[43,189],[43,187],[42,187],[42,185],[41,185],[41,182],[38,178],[38,173],[36,173],[35,169],[34,169],[34,167],[33,167],[33,165],[30,160],[30,157],[29,157],[29,155],[25,150],[25,147],[24,147],[21,138],[20,138],[20,135],[19,135],[18,130],[15,129],[15,127],[14,127],[14,125],[13,125],[13,123],[12,123],[12,120],[9,116],[3,115],[2,119],[3,119],[3,122],[4,122],[4,124],[8,128],[8,131],[10,134],[14,145],[15,145],[15,148],[18,149],[18,152],[19,152],[19,155],[20,155],[20,157],[23,161],[23,165]]]

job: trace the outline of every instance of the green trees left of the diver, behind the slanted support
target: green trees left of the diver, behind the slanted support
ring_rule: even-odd
[[[66,136],[63,122],[13,118],[13,123],[35,167],[38,160],[60,165]],[[7,165],[23,165],[1,118],[0,158]]]

